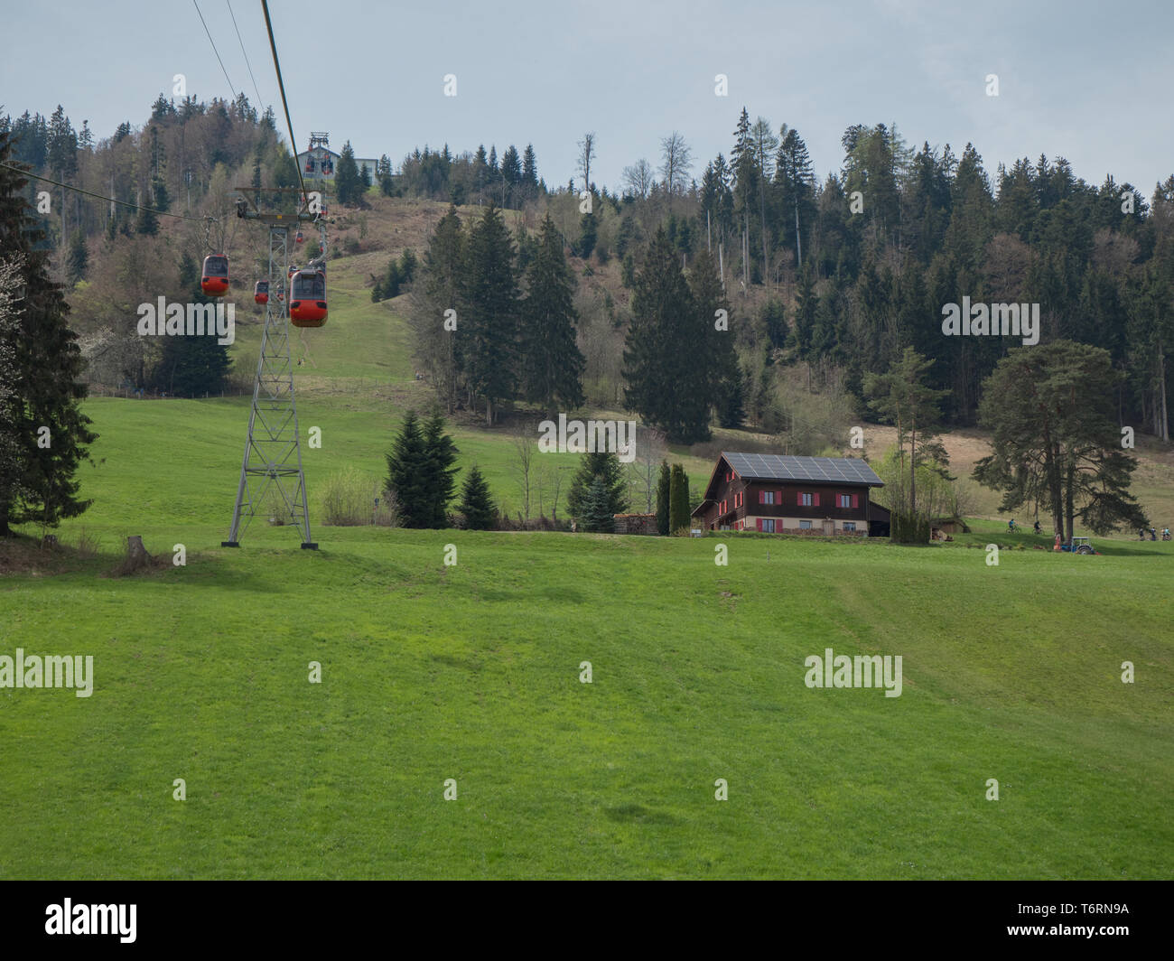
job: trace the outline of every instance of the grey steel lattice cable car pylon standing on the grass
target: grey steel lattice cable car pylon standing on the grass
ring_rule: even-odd
[[[294,398],[294,367],[290,359],[289,296],[289,227],[269,226],[269,301],[265,327],[261,334],[261,356],[252,384],[252,409],[249,411],[249,435],[241,461],[241,483],[232,510],[232,529],[223,547],[238,547],[241,520],[245,527],[258,513],[272,516],[264,506],[270,489],[277,491],[278,516],[302,533],[302,547],[315,550],[310,539],[310,511],[305,499],[305,473],[302,471],[302,446],[298,437],[297,404]],[[276,268],[276,270],[275,270]],[[275,295],[281,300],[275,303]]]

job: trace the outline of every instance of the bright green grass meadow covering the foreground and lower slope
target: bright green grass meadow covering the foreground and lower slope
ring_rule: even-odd
[[[323,432],[312,509],[332,471],[382,476],[425,398],[394,315],[349,283],[299,395],[303,437]],[[234,551],[247,401],[87,411],[94,505],[0,578],[0,654],[92,654],[94,692],[0,688],[0,878],[1174,872],[1172,544],[1073,557],[994,520],[920,549],[315,520],[317,552],[261,522]],[[456,439],[507,493],[505,432]],[[109,577],[128,535],[164,563]],[[989,566],[989,542],[1028,549]],[[902,695],[808,688],[826,647],[900,656]]]

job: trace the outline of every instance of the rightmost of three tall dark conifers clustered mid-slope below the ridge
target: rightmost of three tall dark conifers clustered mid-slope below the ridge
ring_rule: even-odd
[[[585,361],[575,343],[575,280],[562,251],[562,237],[547,214],[538,254],[527,275],[522,303],[521,384],[527,401],[540,403],[553,418],[555,403],[583,403]]]

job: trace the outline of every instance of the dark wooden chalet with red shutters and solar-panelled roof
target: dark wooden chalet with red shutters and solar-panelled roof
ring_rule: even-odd
[[[707,531],[878,537],[889,533],[889,511],[869,491],[883,486],[856,457],[722,451],[693,522]]]

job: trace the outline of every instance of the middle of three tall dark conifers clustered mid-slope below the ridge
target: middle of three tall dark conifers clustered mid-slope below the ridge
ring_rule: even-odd
[[[470,231],[460,281],[464,371],[492,426],[494,402],[513,397],[517,387],[519,307],[513,242],[493,203]]]

